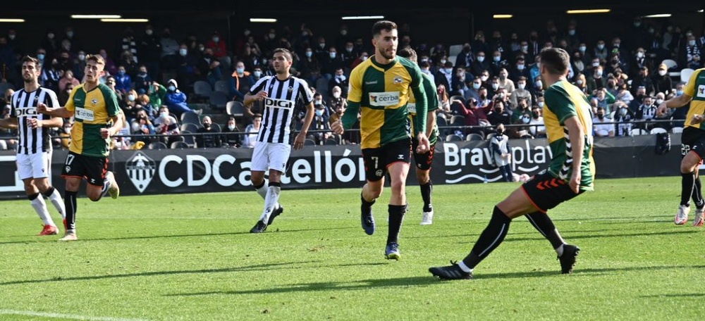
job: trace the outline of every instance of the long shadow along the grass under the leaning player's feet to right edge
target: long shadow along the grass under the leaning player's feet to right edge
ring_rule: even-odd
[[[671,265],[671,266],[650,266],[650,267],[625,267],[625,268],[604,268],[604,269],[586,269],[578,270],[574,276],[566,275],[566,277],[601,275],[607,272],[624,272],[624,271],[645,271],[645,270],[670,270],[680,268],[705,268],[705,265],[686,266],[686,265]],[[475,275],[475,279],[524,279],[529,277],[557,277],[560,276],[558,271],[534,271],[534,272],[510,272],[510,273],[491,273]],[[286,294],[293,292],[308,292],[308,291],[351,291],[351,290],[369,290],[373,288],[404,288],[404,287],[427,287],[440,282],[448,282],[431,277],[400,277],[397,279],[364,279],[355,282],[313,282],[307,284],[286,284],[283,287],[272,289],[252,289],[244,291],[208,291],[195,292],[187,294],[166,294],[165,296],[208,296],[208,295],[243,295],[243,294]],[[472,282],[472,281],[467,281]],[[686,294],[684,294],[685,296]],[[697,294],[702,295],[702,294]]]

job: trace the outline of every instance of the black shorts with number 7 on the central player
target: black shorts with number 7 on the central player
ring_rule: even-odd
[[[362,160],[364,177],[371,182],[381,180],[389,165],[411,163],[411,139],[393,141],[376,149],[362,149]]]

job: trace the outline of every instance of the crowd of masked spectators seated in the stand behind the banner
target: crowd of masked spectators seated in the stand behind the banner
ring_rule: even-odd
[[[399,48],[415,49],[422,72],[434,79],[440,103],[439,125],[453,125],[442,131],[444,135],[484,136],[503,124],[510,138],[545,137],[544,84],[538,53],[548,47],[570,53],[568,80],[589,99],[596,136],[630,135],[635,128],[682,126],[676,120],[685,118],[687,108],[661,117],[672,122],[648,121],[659,118],[655,113],[658,103],[682,94],[680,77],[671,77],[670,73],[702,68],[704,32],[663,20],[635,18],[625,24],[620,37],[610,39],[589,34],[589,25],[579,25],[576,20],[565,25],[548,20],[545,30],[510,33],[480,27],[472,39],[458,39],[455,44],[415,42],[414,34],[402,27]],[[43,65],[39,80],[42,86],[54,89],[59,101],[66,103],[83,77],[87,52],[79,30],[66,27],[63,31],[25,35],[9,29],[0,34],[0,85],[4,89],[21,88],[19,61],[29,54]],[[168,27],[127,28],[116,39],[116,48],[98,51],[106,60],[101,82],[118,96],[126,119],[123,133],[143,137],[116,139],[115,147],[133,148],[137,141],[176,146],[173,143],[188,141],[183,139],[184,134],[194,132],[204,134],[194,135],[190,146],[253,146],[251,131],[259,127],[261,106],[255,104],[244,117],[230,117],[218,124],[212,122],[215,117],[200,115],[202,110],[195,108],[193,84],[207,82],[214,89],[216,83],[226,83],[228,100],[242,102],[257,80],[274,75],[269,57],[278,47],[293,52],[291,72],[306,80],[316,93],[316,115],[309,129],[313,131],[309,135],[312,144],[355,144],[359,134],[339,137],[329,130],[330,123],[345,111],[350,70],[374,54],[367,32],[342,25],[335,37],[324,37],[305,24],[298,30],[278,26],[264,34],[253,34],[249,29],[233,31],[233,43],[226,44],[219,31],[208,39],[199,39],[172,34]],[[22,45],[23,37],[37,36],[42,37],[39,48]],[[598,40],[588,43],[588,38]],[[664,63],[667,60],[675,61],[675,65]],[[1,106],[7,105],[7,96],[4,92]],[[4,108],[2,117],[6,113]],[[182,115],[191,113],[197,115],[197,128],[184,130]],[[62,134],[71,127],[71,120],[66,123],[54,133],[57,146],[68,144]],[[298,127],[302,124],[300,120],[295,123]],[[0,134],[12,135],[7,131]],[[163,134],[173,139],[164,139]],[[12,144],[11,139],[4,143],[8,141]]]

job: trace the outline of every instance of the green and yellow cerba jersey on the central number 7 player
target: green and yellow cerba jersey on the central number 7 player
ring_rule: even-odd
[[[418,100],[415,107],[419,120],[415,129],[426,131],[427,97],[422,75],[415,63],[402,57],[381,65],[373,56],[353,69],[343,128],[352,127],[360,111],[362,149],[379,148],[410,137],[407,109],[410,91],[414,91]]]

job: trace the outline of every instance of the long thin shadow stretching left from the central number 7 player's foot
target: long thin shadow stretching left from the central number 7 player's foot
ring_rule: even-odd
[[[340,264],[340,265],[317,265],[317,266],[305,266],[309,263],[320,263],[320,260],[309,260],[302,262],[287,262],[287,263],[271,263],[262,265],[247,265],[243,267],[226,267],[222,269],[202,269],[202,270],[177,270],[177,271],[154,271],[154,272],[140,272],[140,273],[127,273],[119,275],[90,275],[85,277],[54,277],[51,279],[27,279],[21,281],[9,281],[0,282],[0,287],[4,285],[14,285],[14,284],[34,284],[34,283],[44,283],[44,282],[63,282],[63,281],[88,281],[96,279],[119,279],[123,277],[154,277],[159,275],[188,275],[188,274],[200,274],[200,273],[223,273],[223,272],[251,272],[251,271],[271,271],[271,270],[293,270],[293,269],[303,269],[303,268],[319,268],[319,267],[353,267],[353,266],[367,266],[367,265],[386,265],[388,263],[350,263],[350,264]],[[297,266],[304,265],[304,266]]]

